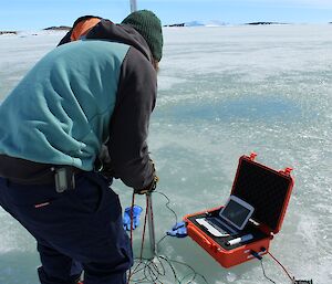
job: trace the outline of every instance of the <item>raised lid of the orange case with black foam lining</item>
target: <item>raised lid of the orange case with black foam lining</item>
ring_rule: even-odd
[[[277,171],[255,160],[256,154],[239,159],[231,193],[255,208],[252,220],[262,231],[278,233],[293,187],[290,168]]]

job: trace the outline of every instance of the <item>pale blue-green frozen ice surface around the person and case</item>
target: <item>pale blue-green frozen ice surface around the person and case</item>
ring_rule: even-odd
[[[295,277],[331,283],[331,27],[166,28],[164,34],[149,136],[158,191],[169,197],[180,219],[227,200],[243,154],[255,150],[258,161],[277,169],[293,167],[295,187],[271,252]],[[0,99],[62,35],[0,36]],[[120,181],[114,189],[123,207],[129,206],[131,190]],[[157,239],[175,222],[166,201],[154,194]],[[144,206],[144,199],[137,203]],[[33,240],[3,211],[0,222],[0,283],[14,284],[17,277],[35,283]],[[166,238],[159,249],[210,284],[268,282],[258,261],[225,270],[189,238]],[[272,259],[263,263],[269,277],[288,283]],[[174,284],[172,274],[167,281]]]

